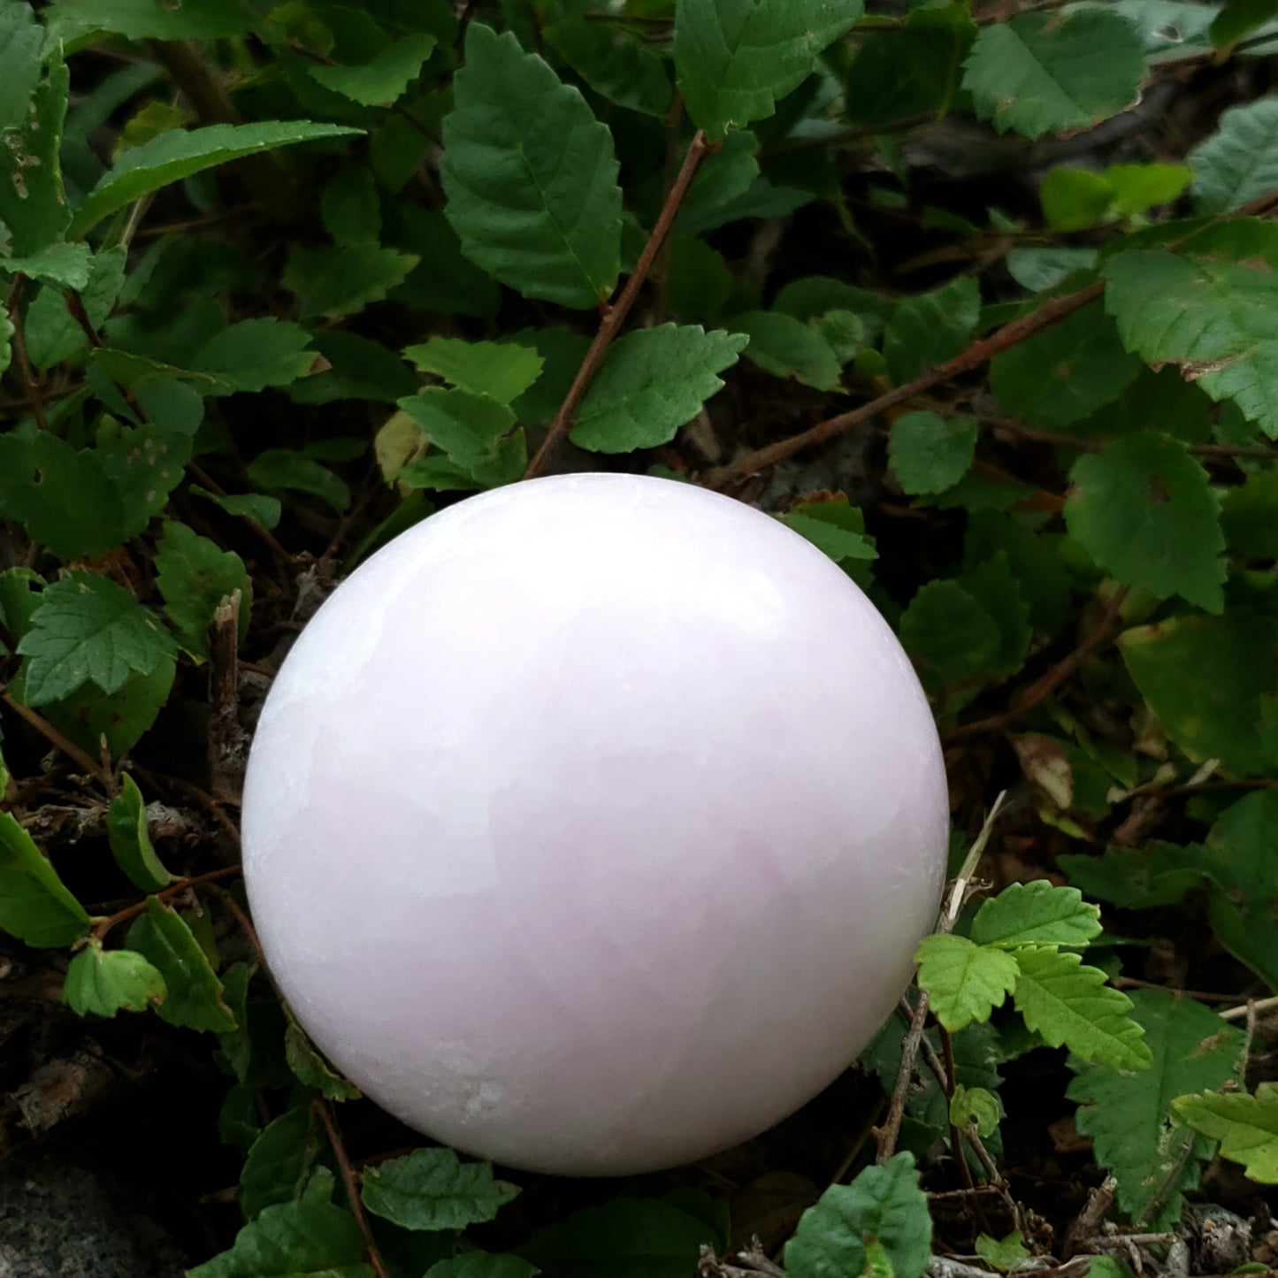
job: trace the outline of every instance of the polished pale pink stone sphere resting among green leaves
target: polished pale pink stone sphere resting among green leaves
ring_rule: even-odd
[[[298,1020],[404,1122],[527,1171],[672,1167],[829,1084],[944,877],[928,703],[768,515],[574,474],[359,567],[267,698],[244,873]]]

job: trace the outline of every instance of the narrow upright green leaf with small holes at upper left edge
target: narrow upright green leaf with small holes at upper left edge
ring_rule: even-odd
[[[14,257],[29,257],[59,243],[70,222],[59,158],[69,96],[70,73],[55,55],[31,107],[23,102],[18,127],[4,129],[0,222],[9,227]]]

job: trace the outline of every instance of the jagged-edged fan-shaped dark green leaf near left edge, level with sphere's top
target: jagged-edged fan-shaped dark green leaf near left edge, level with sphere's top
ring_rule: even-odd
[[[171,657],[174,642],[123,585],[69,573],[45,588],[18,652],[28,658],[27,704],[43,705],[87,682],[114,693]]]

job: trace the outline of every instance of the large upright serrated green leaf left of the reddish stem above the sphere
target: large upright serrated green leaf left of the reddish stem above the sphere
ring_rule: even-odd
[[[452,87],[440,175],[463,252],[524,296],[604,300],[621,262],[612,134],[541,58],[478,22]]]

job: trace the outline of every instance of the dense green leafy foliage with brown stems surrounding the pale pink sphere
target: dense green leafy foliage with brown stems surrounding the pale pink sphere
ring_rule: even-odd
[[[919,1278],[920,1185],[974,1177],[999,1237],[939,1241],[1051,1251],[999,1086],[1052,1048],[1075,1173],[1137,1232],[1218,1155],[1278,1181],[1243,1016],[1278,992],[1275,6],[870,9],[0,0],[0,928],[77,1013],[212,1035],[243,1228],[199,1278],[686,1278],[743,1241],[691,1178],[491,1251],[464,1231],[519,1187],[486,1164],[351,1168],[358,1094],[215,855],[236,649],[268,677],[378,544],[565,459],[760,502],[868,590],[948,749],[955,872],[1015,791],[1030,851],[958,873],[919,1034],[860,1062],[877,1150],[849,1134],[787,1270]],[[1222,66],[1251,96],[1160,132]],[[207,758],[170,763],[193,705]],[[73,864],[54,794],[112,861]],[[158,800],[206,837],[153,841]],[[1169,918],[1196,944],[1159,969]]]

